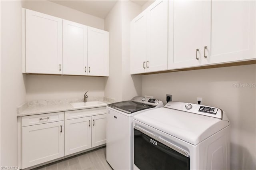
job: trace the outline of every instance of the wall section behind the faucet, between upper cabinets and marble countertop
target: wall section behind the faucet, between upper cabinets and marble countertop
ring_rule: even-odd
[[[26,101],[82,98],[86,91],[88,99],[103,97],[104,87],[104,77],[27,75]]]

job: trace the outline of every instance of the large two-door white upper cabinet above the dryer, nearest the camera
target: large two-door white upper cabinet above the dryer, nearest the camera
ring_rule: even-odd
[[[170,1],[168,69],[255,59],[255,16],[255,1]]]

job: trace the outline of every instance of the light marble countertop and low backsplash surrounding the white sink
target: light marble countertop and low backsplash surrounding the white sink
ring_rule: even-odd
[[[114,99],[101,97],[101,98],[94,98],[90,99],[89,101],[101,101],[106,105],[110,103],[114,103]],[[96,108],[96,107],[105,107],[104,106],[91,106],[86,108],[74,108],[70,103],[82,102],[82,99],[66,99],[66,100],[39,100],[39,101],[30,101],[24,103],[24,105],[17,108],[17,117],[22,116],[29,116],[29,115],[39,115],[44,113],[54,113],[54,112],[63,112],[63,111],[73,111],[73,110],[80,110],[80,109],[89,109],[89,108]]]

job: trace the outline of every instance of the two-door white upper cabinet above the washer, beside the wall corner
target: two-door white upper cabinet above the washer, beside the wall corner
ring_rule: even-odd
[[[131,74],[168,65],[168,1],[157,0],[131,22]]]

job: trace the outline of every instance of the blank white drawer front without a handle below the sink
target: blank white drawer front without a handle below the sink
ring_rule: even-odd
[[[102,115],[105,113],[106,113],[106,107],[82,109],[82,110],[76,110],[76,111],[66,111],[65,120],[76,119],[76,118],[87,117],[87,116],[94,116],[94,115]]]

